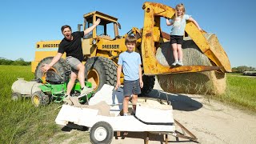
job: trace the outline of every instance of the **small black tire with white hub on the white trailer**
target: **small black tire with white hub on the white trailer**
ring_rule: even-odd
[[[90,142],[93,144],[112,142],[114,131],[107,122],[97,122],[90,129]]]

